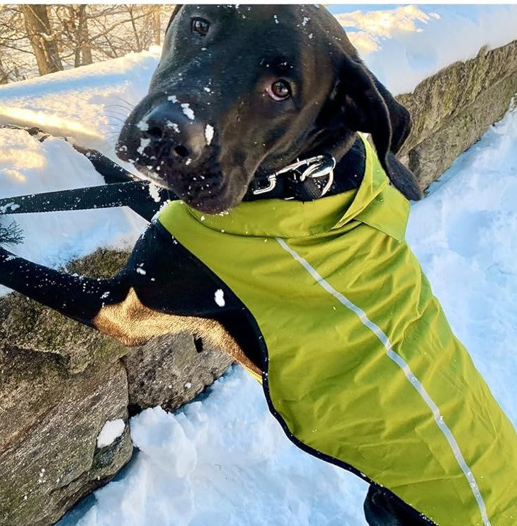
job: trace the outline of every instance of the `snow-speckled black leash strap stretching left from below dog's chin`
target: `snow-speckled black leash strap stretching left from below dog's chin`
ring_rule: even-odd
[[[0,199],[0,215],[129,206],[150,221],[161,204],[171,198],[166,190],[157,189],[156,200],[150,193],[151,189],[147,181],[127,181],[45,192],[45,194],[7,197]]]

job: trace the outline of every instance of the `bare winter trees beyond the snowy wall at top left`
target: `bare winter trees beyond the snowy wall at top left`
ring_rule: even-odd
[[[161,43],[174,4],[0,4],[0,84]]]

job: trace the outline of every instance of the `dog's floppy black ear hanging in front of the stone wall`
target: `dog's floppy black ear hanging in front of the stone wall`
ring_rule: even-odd
[[[411,130],[409,111],[360,61],[346,55],[331,98],[349,130],[370,133],[380,164],[394,186],[407,198],[420,199],[414,174],[394,156]]]

